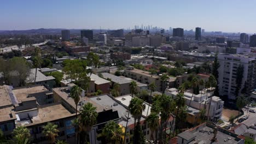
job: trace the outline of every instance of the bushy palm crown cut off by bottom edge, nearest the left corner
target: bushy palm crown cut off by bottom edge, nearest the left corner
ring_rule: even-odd
[[[31,135],[30,130],[25,126],[17,127],[13,130],[13,140],[18,144],[30,143]]]

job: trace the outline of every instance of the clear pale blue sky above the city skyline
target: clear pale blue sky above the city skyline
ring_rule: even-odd
[[[254,0],[4,0],[0,29],[133,28],[153,25],[256,32]]]

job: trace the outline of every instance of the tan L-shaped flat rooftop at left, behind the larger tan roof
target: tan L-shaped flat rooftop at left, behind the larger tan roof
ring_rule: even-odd
[[[13,89],[13,93],[15,97],[20,102],[30,100],[31,98],[27,97],[29,94],[41,93],[41,92],[47,92],[47,91],[49,90],[44,86],[32,86],[32,87],[22,87],[22,88]]]

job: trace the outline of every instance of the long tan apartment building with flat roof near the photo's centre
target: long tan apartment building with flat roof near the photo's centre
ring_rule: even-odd
[[[124,76],[129,77],[138,82],[149,85],[150,83],[155,83],[156,91],[162,91],[162,80],[158,75],[152,75],[148,71],[129,68],[124,70]]]

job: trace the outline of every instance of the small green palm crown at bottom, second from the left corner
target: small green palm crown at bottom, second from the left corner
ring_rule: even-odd
[[[48,137],[50,140],[50,143],[55,142],[55,137],[58,136],[57,133],[59,133],[59,130],[57,129],[58,125],[53,124],[53,123],[47,123],[44,126],[43,134]]]

